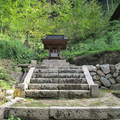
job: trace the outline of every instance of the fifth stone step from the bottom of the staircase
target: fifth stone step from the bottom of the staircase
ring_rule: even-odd
[[[34,73],[83,73],[82,69],[35,69]]]

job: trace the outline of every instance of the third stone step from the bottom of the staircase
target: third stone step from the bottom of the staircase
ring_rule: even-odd
[[[86,78],[31,78],[30,83],[87,83]]]

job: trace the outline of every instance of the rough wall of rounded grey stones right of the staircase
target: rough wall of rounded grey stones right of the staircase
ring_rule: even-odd
[[[92,68],[92,69],[91,69]],[[88,66],[95,84],[101,89],[120,90],[120,63]]]

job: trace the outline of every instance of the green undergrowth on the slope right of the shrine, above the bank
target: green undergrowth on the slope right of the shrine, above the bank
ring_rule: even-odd
[[[120,21],[110,22],[109,26],[99,34],[99,37],[93,42],[91,36],[86,41],[76,44],[68,44],[67,50],[62,51],[63,57],[68,61],[77,56],[88,56],[102,51],[120,50]]]

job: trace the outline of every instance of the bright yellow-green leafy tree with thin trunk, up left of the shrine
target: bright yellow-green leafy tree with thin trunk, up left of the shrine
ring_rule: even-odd
[[[49,4],[38,0],[17,0],[14,3],[12,11],[12,23],[14,31],[18,31],[26,35],[26,42],[30,34],[36,29],[40,29],[42,21],[48,15]],[[40,23],[41,22],[41,23]]]

